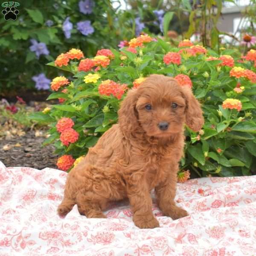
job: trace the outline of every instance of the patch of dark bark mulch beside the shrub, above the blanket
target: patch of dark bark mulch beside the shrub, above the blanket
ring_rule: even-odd
[[[43,147],[44,140],[45,137],[36,137],[35,131],[28,131],[21,137],[0,140],[0,161],[7,167],[26,166],[39,170],[46,167],[57,169],[55,162],[58,156],[53,153],[55,148],[53,145]]]

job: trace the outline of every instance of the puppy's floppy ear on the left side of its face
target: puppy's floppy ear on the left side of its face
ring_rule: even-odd
[[[120,125],[120,129],[125,133],[130,133],[138,127],[136,103],[139,98],[139,93],[137,91],[137,89],[131,89],[128,91],[118,111],[118,123]]]

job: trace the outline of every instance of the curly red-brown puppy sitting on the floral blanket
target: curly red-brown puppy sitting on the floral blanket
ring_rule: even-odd
[[[137,227],[159,227],[152,213],[151,189],[164,215],[188,213],[175,205],[177,171],[183,154],[184,123],[194,131],[204,124],[200,104],[173,78],[151,75],[130,90],[113,125],[68,177],[60,216],[77,204],[88,218],[105,218],[110,201],[129,198]]]

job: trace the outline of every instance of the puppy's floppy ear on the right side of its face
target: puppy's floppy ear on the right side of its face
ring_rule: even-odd
[[[182,87],[182,91],[186,101],[186,125],[193,131],[199,131],[204,125],[204,116],[200,103],[195,99],[189,87]]]

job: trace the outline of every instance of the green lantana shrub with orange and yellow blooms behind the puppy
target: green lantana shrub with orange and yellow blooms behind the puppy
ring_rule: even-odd
[[[119,104],[128,90],[139,87],[150,74],[163,74],[190,87],[204,111],[201,131],[186,128],[180,181],[189,177],[189,172],[182,172],[188,169],[201,176],[250,174],[256,160],[254,52],[241,58],[232,49],[218,55],[187,40],[179,45],[141,35],[127,46],[134,51],[104,49],[94,58],[69,60],[65,70],[73,74],[72,81],[53,79],[52,89],[58,91],[49,96],[65,100],[32,116],[49,122],[50,136],[44,144],[54,143],[56,152],[64,155],[58,160],[60,169],[70,168],[73,159],[85,155],[118,121]],[[56,61],[49,65],[62,68]]]

